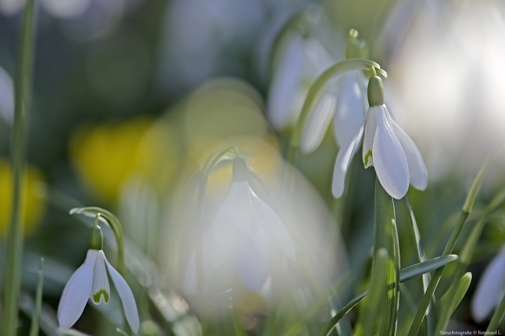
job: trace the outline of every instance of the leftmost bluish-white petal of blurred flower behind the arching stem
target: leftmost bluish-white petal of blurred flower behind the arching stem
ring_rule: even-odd
[[[276,129],[282,129],[293,122],[300,111],[296,95],[301,85],[302,66],[305,59],[303,40],[293,37],[285,51],[283,63],[276,71],[268,93],[268,118]]]

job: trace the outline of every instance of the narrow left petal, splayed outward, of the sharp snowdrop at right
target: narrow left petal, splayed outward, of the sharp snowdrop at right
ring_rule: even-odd
[[[344,192],[345,174],[347,174],[352,157],[360,148],[364,128],[364,123],[359,125],[338,151],[331,179],[331,192],[335,198],[340,198]]]

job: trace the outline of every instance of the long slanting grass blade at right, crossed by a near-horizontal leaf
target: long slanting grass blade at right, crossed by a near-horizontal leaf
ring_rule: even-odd
[[[465,223],[467,222],[468,216],[470,215],[470,212],[472,211],[473,204],[475,202],[475,197],[477,196],[477,191],[479,190],[479,187],[482,183],[482,180],[484,179],[484,175],[486,173],[487,167],[491,163],[491,161],[494,159],[495,153],[492,153],[486,158],[486,161],[482,164],[480,167],[479,172],[477,173],[477,176],[475,177],[472,187],[470,188],[470,191],[468,192],[467,199],[465,200],[465,204],[463,205],[463,209],[461,210],[460,218],[458,219],[458,222],[456,223],[455,228],[452,230],[452,233],[449,237],[449,241],[445,245],[445,249],[442,253],[442,255],[448,255],[452,253],[452,250],[454,249],[454,246],[456,245],[456,242],[458,241],[458,238],[460,237],[461,230],[463,230],[463,227],[465,226]],[[419,329],[421,328],[421,324],[423,323],[423,318],[424,315],[426,314],[426,309],[428,309],[428,305],[430,304],[431,298],[433,297],[433,294],[435,293],[435,289],[437,288],[438,282],[440,281],[440,278],[442,277],[442,273],[445,269],[445,266],[442,266],[438,268],[435,271],[435,274],[431,278],[430,284],[428,288],[426,289],[426,292],[424,293],[423,299],[421,300],[421,304],[419,305],[419,308],[417,310],[416,316],[414,317],[414,321],[412,322],[411,328],[409,330],[408,336],[417,336]]]

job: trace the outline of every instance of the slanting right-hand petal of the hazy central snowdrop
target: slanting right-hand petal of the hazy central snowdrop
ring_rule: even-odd
[[[273,211],[272,208],[270,208],[270,206],[266,204],[263,199],[258,197],[252,190],[250,190],[250,195],[258,214],[261,216],[267,227],[267,230],[275,237],[284,253],[294,260],[296,256],[291,237],[284,227],[284,224],[282,224],[279,216],[277,216],[275,211]]]

